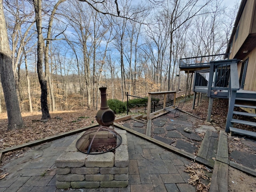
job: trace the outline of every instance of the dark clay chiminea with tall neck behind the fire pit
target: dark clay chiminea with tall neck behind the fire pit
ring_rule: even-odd
[[[110,125],[113,124],[115,120],[115,114],[108,106],[106,89],[107,89],[106,87],[99,88],[100,96],[101,96],[101,104],[100,104],[100,110],[98,110],[95,118],[98,124],[109,127]]]

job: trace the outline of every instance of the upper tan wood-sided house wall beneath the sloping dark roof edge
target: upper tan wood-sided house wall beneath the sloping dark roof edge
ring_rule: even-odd
[[[236,32],[233,37],[233,48],[230,55],[230,58],[234,58],[244,41],[246,40],[248,34],[251,33],[251,30],[256,30],[255,26],[252,27],[252,21],[254,20],[254,0],[247,0],[246,5],[244,7],[244,11],[242,12],[240,21],[238,23],[238,37],[236,38]]]

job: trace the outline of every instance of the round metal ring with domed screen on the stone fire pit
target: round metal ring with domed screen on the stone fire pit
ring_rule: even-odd
[[[105,127],[105,128],[104,128]],[[97,129],[97,130],[96,130]],[[95,131],[92,131],[92,130],[95,130]],[[89,131],[89,132],[88,132]],[[92,132],[90,132],[92,131]],[[91,133],[96,133],[96,132],[100,132],[100,131],[109,131],[110,133],[112,133],[114,136],[116,136],[116,138],[120,141],[115,147],[111,148],[110,150],[106,150],[106,151],[102,151],[102,152],[91,152],[90,153],[90,149],[91,149],[91,146],[92,146],[92,143],[94,141],[94,138],[96,136],[96,134],[94,134],[91,142],[90,142],[90,145],[88,147],[88,150],[86,151],[82,151],[79,147],[78,147],[78,143],[80,142],[80,140],[83,139],[84,136],[88,135],[88,134],[91,134]],[[88,133],[87,133],[88,132]],[[115,132],[114,130],[112,130],[111,128],[109,127],[106,127],[106,126],[100,126],[100,127],[96,127],[96,128],[91,128],[89,130],[87,130],[86,132],[84,132],[84,134],[77,140],[76,142],[76,148],[82,152],[82,153],[85,153],[85,154],[102,154],[102,153],[106,153],[106,152],[110,152],[114,149],[116,149],[118,146],[120,146],[120,144],[122,144],[122,137],[120,136],[120,134],[118,134],[117,132]]]

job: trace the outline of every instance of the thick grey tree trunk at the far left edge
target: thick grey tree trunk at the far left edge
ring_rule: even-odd
[[[11,51],[8,42],[2,0],[0,0],[0,37],[0,75],[8,116],[7,129],[20,129],[24,127],[24,122],[22,120],[18,96],[16,94]]]

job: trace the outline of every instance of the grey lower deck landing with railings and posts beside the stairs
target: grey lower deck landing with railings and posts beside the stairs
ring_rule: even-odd
[[[228,98],[228,115],[226,120],[226,132],[229,132],[236,101],[236,91],[239,90],[239,78],[237,69],[238,60],[222,60],[210,62],[210,69],[195,72],[194,76],[194,101],[196,92],[206,93],[211,98]],[[215,93],[214,93],[215,92]],[[208,119],[209,114],[208,114]]]

